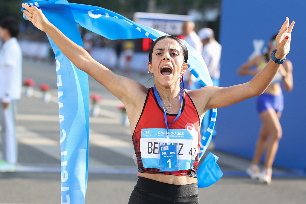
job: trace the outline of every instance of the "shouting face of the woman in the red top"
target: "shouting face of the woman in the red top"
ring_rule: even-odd
[[[176,40],[165,38],[159,40],[152,53],[152,63],[148,62],[148,69],[154,74],[155,84],[172,87],[180,83],[180,75],[186,71],[188,64],[184,64],[181,46]]]

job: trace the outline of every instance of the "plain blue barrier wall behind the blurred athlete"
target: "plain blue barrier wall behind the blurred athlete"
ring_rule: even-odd
[[[244,83],[252,77],[237,76],[237,68],[248,59],[254,48],[253,39],[264,39],[278,33],[286,16],[296,22],[287,55],[293,63],[294,87],[284,92],[285,108],[280,120],[283,138],[274,165],[306,172],[306,1],[301,0],[223,0],[221,16],[220,86]],[[215,136],[216,149],[252,158],[260,120],[256,98],[218,109]]]

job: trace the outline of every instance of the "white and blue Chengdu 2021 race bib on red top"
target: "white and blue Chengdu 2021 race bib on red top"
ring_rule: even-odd
[[[177,145],[179,170],[193,168],[193,162],[198,154],[198,132],[186,129],[143,128],[141,129],[140,152],[144,168],[159,169],[159,143]]]

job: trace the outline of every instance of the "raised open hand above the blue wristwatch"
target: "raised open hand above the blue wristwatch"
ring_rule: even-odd
[[[274,56],[277,59],[284,59],[290,50],[291,32],[294,26],[294,20],[289,26],[289,18],[286,17],[284,24],[279,30],[278,35],[275,38],[277,51]]]

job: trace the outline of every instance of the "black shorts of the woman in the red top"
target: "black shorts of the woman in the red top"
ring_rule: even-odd
[[[186,185],[166,184],[138,177],[129,204],[198,204],[198,183]]]

